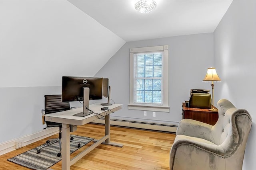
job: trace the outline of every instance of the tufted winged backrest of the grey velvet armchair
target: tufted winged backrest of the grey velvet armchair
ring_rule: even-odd
[[[219,118],[212,127],[212,139],[216,145],[225,150],[225,155],[244,150],[250,129],[252,118],[245,109],[236,109],[228,100],[221,99],[217,103]]]

